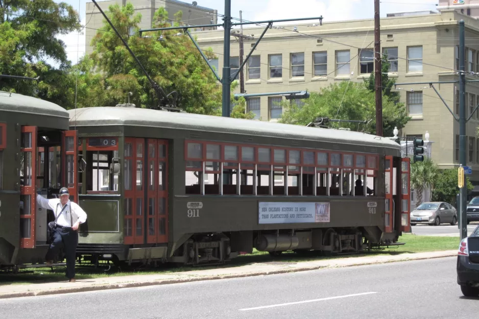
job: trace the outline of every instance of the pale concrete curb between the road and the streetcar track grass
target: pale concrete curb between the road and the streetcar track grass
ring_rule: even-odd
[[[253,272],[253,273],[243,273],[243,274],[202,276],[202,277],[178,278],[178,279],[159,279],[159,280],[154,280],[154,281],[136,281],[136,282],[115,283],[115,284],[99,284],[99,285],[90,285],[90,286],[84,286],[84,287],[69,287],[69,288],[58,288],[58,289],[50,289],[50,290],[22,291],[22,292],[11,292],[11,293],[6,292],[6,293],[0,294],[0,299],[47,296],[47,295],[57,295],[57,294],[60,294],[60,293],[73,293],[73,292],[111,290],[111,289],[121,289],[121,288],[135,288],[135,287],[170,285],[170,284],[187,283],[187,282],[195,282],[195,281],[205,281],[205,280],[219,280],[219,279],[230,279],[230,278],[267,276],[267,275],[276,275],[276,274],[314,271],[314,270],[323,269],[323,268],[324,269],[345,268],[345,267],[351,267],[351,266],[384,264],[384,263],[392,263],[392,262],[398,262],[398,261],[436,259],[436,258],[446,258],[446,257],[453,257],[453,256],[457,256],[457,253],[450,253],[450,254],[445,254],[445,255],[441,255],[441,256],[432,256],[432,257],[407,256],[407,257],[404,257],[404,258],[394,259],[394,260],[373,260],[373,261],[353,262],[353,263],[344,264],[344,265],[333,264],[333,265],[326,265],[326,266],[307,266],[307,267],[298,267],[298,268],[290,268],[290,269],[277,269],[277,270],[274,270],[274,271],[263,271],[263,272]]]

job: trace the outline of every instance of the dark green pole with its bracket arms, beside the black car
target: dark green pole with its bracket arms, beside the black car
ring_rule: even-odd
[[[436,94],[439,95],[442,103],[446,106],[451,113],[452,117],[459,122],[459,163],[462,167],[466,166],[466,123],[471,119],[472,115],[479,108],[479,103],[475,109],[469,114],[469,117],[466,118],[466,82],[479,82],[479,80],[466,80],[466,70],[465,70],[465,61],[466,61],[466,44],[465,44],[465,25],[464,20],[459,21],[459,81],[440,81],[440,82],[416,82],[416,83],[397,83],[394,84],[394,88],[397,85],[423,85],[429,84],[429,87],[434,89]],[[434,84],[446,84],[446,83],[459,83],[459,117],[452,112],[451,108],[442,98],[439,91],[436,89]],[[459,228],[461,239],[467,237],[467,215],[466,215],[466,197],[467,197],[467,184],[464,182],[463,187],[460,187],[459,193]]]

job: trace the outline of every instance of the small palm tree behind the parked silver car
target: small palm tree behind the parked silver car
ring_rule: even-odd
[[[411,165],[411,187],[416,190],[416,206],[422,203],[424,189],[434,185],[438,174],[438,165],[430,158]]]

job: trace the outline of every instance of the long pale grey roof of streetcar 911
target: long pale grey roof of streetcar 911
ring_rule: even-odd
[[[143,108],[93,107],[68,110],[70,126],[137,126],[179,130],[208,131],[226,134],[303,139],[323,142],[344,142],[400,149],[401,146],[384,137],[334,129],[312,128],[241,118],[157,111]]]

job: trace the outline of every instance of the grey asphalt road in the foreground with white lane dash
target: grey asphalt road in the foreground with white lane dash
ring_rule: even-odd
[[[0,300],[16,318],[475,318],[456,258]]]

